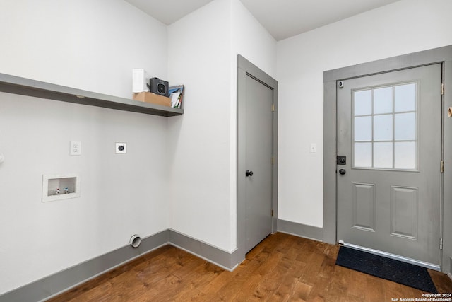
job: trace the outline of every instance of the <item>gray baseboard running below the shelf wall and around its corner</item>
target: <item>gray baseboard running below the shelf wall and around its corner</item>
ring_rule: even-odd
[[[85,281],[93,279],[119,265],[123,265],[167,244],[186,250],[197,257],[201,257],[230,271],[238,265],[238,263],[234,263],[234,260],[237,258],[235,252],[225,252],[212,245],[168,229],[156,233],[153,236],[142,238],[138,248],[132,248],[131,245],[126,245],[105,255],[100,255],[99,257],[64,269],[61,272],[21,286],[18,289],[1,294],[0,302],[45,301],[48,298],[57,296]]]

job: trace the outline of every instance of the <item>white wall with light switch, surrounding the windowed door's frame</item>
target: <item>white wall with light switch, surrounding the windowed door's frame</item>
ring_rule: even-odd
[[[451,11],[403,0],[278,42],[278,218],[323,226],[323,71],[451,45]]]

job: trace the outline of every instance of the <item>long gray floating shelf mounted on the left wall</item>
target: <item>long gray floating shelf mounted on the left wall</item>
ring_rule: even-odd
[[[55,85],[31,79],[20,78],[8,74],[0,74],[0,91],[36,98],[61,100],[63,102],[90,105],[117,110],[140,112],[148,115],[172,117],[184,114],[183,109],[144,103],[129,98],[119,98],[102,93],[83,91],[81,89]]]

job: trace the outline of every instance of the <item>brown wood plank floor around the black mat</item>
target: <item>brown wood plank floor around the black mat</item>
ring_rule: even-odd
[[[338,245],[275,233],[234,270],[171,245],[49,301],[395,301],[422,291],[335,265]],[[441,293],[452,281],[429,271]]]

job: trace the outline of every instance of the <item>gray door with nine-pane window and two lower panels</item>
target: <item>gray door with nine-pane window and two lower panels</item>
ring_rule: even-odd
[[[338,240],[440,265],[441,64],[338,82]]]

